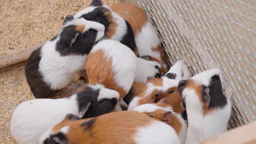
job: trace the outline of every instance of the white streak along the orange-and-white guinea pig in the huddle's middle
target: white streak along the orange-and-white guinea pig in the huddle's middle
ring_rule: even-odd
[[[154,86],[153,83],[147,83],[147,90],[144,92],[143,97],[136,97],[133,98],[129,104],[127,110],[133,110],[135,107],[138,106],[138,101],[144,97],[148,97],[148,94],[152,93],[154,89],[158,89],[158,91],[166,92],[171,87],[177,87],[179,80],[168,79],[167,77],[161,77],[163,79],[162,86]]]

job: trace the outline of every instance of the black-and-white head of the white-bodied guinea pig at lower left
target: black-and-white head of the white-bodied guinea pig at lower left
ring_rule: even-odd
[[[78,83],[75,88],[80,117],[89,118],[113,111],[118,103],[119,93],[102,85]]]

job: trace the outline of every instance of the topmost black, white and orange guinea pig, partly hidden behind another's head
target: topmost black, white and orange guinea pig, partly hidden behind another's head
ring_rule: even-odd
[[[130,24],[100,0],[92,0],[89,7],[79,11],[74,17],[101,23],[105,26],[104,39],[119,41],[139,56]]]

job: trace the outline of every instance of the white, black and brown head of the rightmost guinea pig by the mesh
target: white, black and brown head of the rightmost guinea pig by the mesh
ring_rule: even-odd
[[[211,113],[214,107],[222,108],[227,104],[230,95],[224,95],[220,70],[211,69],[179,82],[178,91],[187,106],[187,111]],[[189,114],[189,112],[188,112]]]

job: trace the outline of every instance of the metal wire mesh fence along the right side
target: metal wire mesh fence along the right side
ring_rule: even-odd
[[[234,89],[229,128],[256,120],[255,2],[125,0],[144,9],[171,63],[183,59],[196,74],[219,68]]]

